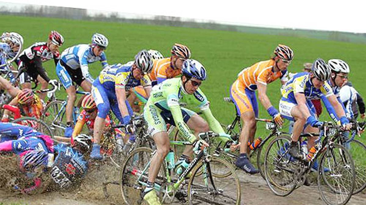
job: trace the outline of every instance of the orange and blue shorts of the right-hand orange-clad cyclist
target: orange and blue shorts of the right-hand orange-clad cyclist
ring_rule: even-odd
[[[230,98],[236,107],[236,113],[240,116],[246,112],[254,112],[258,117],[258,102],[255,91],[245,88],[239,80],[236,80],[230,88]]]

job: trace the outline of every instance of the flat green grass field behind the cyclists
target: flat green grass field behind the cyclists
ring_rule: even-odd
[[[4,31],[16,31],[22,34],[25,47],[34,42],[45,41],[51,30],[57,30],[65,39],[64,45],[60,48],[61,52],[76,44],[89,43],[91,35],[100,32],[109,39],[106,51],[109,64],[130,61],[142,49],[159,50],[163,55],[169,56],[173,43],[187,45],[191,49],[192,58],[202,62],[208,70],[208,79],[202,84],[201,89],[211,101],[214,115],[225,124],[234,118],[235,108],[224,103],[222,99],[229,95],[229,87],[237,74],[244,67],[269,59],[279,43],[288,45],[294,50],[295,58],[289,66],[290,72],[300,71],[304,62],[313,62],[318,57],[326,61],[330,58],[340,58],[350,65],[350,80],[355,88],[361,95],[366,94],[363,84],[366,77],[363,67],[366,56],[365,44],[198,28],[4,15],[0,15],[0,22]],[[57,79],[53,61],[44,63],[44,66],[49,76]],[[93,77],[97,77],[101,71],[100,63],[91,64],[89,71]],[[281,97],[279,89],[279,81],[268,85],[267,94],[275,107],[278,107]],[[65,94],[63,90],[58,93],[60,97],[66,97]],[[269,117],[260,103],[259,107],[259,116]],[[324,113],[321,119],[330,118]],[[257,136],[265,134],[261,128],[262,125],[259,125]]]

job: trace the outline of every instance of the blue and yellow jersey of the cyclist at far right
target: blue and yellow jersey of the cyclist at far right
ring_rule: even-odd
[[[332,88],[325,82],[320,89],[315,88],[311,83],[310,73],[303,72],[295,74],[285,85],[281,88],[282,99],[287,102],[297,104],[295,93],[304,93],[307,100],[321,98],[322,95],[329,97],[333,94]]]

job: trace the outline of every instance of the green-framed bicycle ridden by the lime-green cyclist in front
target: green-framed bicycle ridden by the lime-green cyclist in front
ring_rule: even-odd
[[[203,133],[202,139],[216,137],[213,132]],[[171,144],[181,146],[192,145],[186,141],[171,141]],[[120,174],[120,188],[126,204],[141,204],[143,187],[146,186],[148,169],[152,156],[156,153],[147,147],[140,147],[131,152],[123,163]],[[174,158],[173,158],[174,159]],[[155,181],[154,189],[157,191],[161,202],[171,203],[174,198],[188,204],[206,202],[209,204],[240,204],[240,183],[231,164],[224,159],[209,155],[207,148],[203,148],[188,165],[187,169],[176,179],[171,175],[174,163],[165,160],[160,167]],[[212,174],[220,170],[231,175],[227,178],[218,178]],[[202,174],[198,174],[201,172]],[[190,174],[191,173],[191,174]],[[186,178],[190,176],[187,192],[184,190]],[[226,186],[225,186],[226,185]]]

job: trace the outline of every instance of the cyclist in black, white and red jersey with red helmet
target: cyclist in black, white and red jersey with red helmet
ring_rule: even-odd
[[[51,80],[42,63],[53,59],[55,65],[60,60],[59,47],[64,43],[63,36],[57,31],[51,31],[47,42],[38,42],[24,49],[19,55],[19,78],[22,88],[31,89],[31,78],[41,82],[41,89],[46,89],[48,84],[57,86],[56,80]],[[44,100],[46,93],[40,93],[40,98]]]

